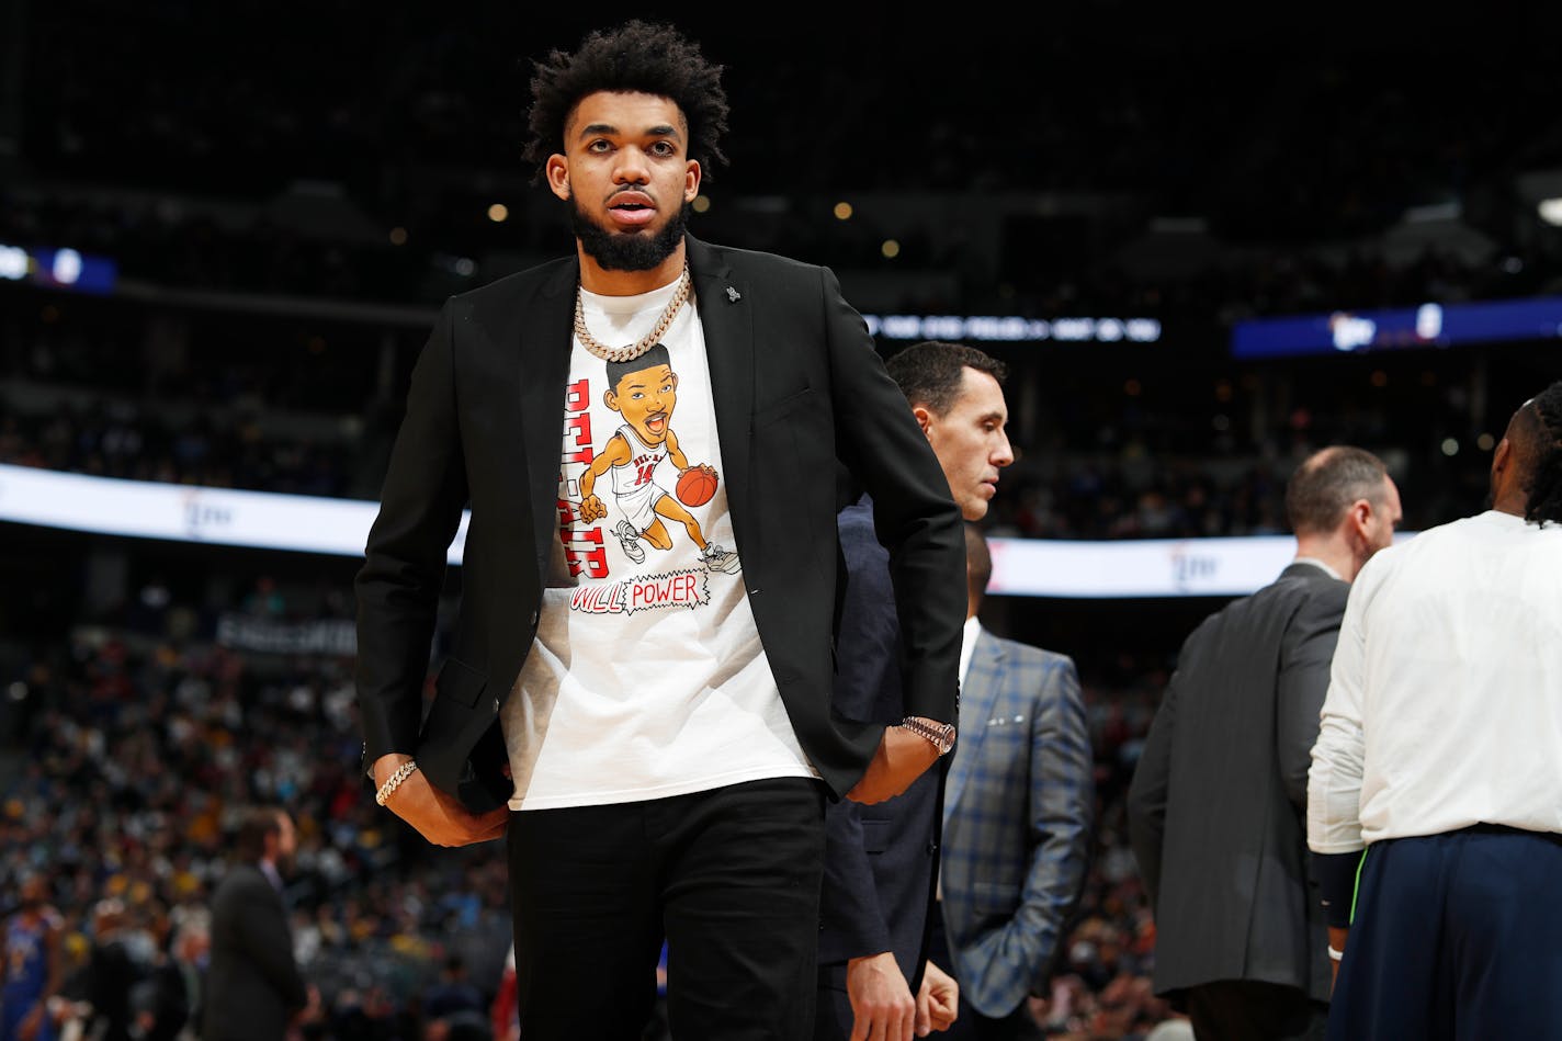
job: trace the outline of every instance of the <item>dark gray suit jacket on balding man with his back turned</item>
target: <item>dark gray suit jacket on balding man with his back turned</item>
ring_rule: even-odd
[[[1307,769],[1348,592],[1290,564],[1182,644],[1128,791],[1157,994],[1261,980],[1329,999]]]

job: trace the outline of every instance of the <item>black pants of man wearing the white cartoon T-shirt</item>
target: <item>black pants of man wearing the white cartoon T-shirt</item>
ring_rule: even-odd
[[[665,938],[675,1038],[809,1038],[823,857],[806,778],[514,814],[522,1036],[639,1041]]]

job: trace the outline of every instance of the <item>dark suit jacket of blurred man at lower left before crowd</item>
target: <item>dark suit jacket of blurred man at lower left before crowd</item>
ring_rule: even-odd
[[[233,868],[211,896],[201,1041],[283,1041],[306,1002],[281,894],[255,864]]]

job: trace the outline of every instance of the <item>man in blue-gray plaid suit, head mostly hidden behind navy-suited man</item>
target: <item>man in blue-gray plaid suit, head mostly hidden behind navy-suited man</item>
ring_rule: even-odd
[[[1090,732],[1073,658],[995,636],[976,619],[992,555],[970,522],[965,572],[961,736],[945,782],[942,916],[929,957],[959,982],[950,1038],[1040,1038],[1026,999],[1047,994],[1090,861]]]

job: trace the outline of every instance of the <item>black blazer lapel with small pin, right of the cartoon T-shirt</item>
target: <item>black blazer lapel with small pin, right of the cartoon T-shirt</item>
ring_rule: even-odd
[[[745,569],[756,564],[753,542],[744,542],[748,510],[748,447],[754,406],[754,325],[748,306],[747,281],[734,277],[731,264],[700,239],[684,236],[689,274],[704,328],[704,353],[711,367],[711,395],[715,405],[715,433],[722,444],[722,483],[733,511],[733,530]]]

